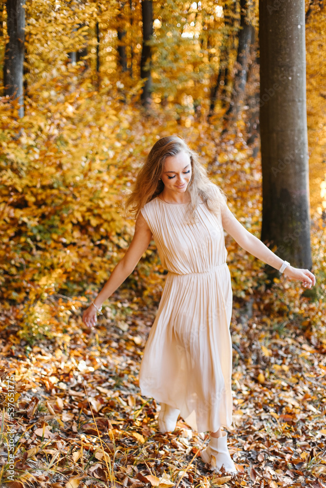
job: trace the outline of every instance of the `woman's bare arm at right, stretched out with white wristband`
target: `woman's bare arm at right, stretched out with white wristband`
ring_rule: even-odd
[[[247,229],[239,223],[231,210],[225,205],[222,210],[222,225],[228,234],[247,252],[260,259],[264,263],[273,266],[275,269],[280,269],[283,264],[283,259],[273,253],[265,244],[261,242],[256,236],[247,231]],[[287,266],[284,274],[291,280],[300,280],[304,286],[316,284],[316,278],[308,269],[295,268],[294,266]]]

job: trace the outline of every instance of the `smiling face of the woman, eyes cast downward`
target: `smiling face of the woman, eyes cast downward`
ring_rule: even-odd
[[[186,151],[168,156],[161,176],[164,187],[177,193],[185,192],[191,180],[191,171],[190,156]]]

